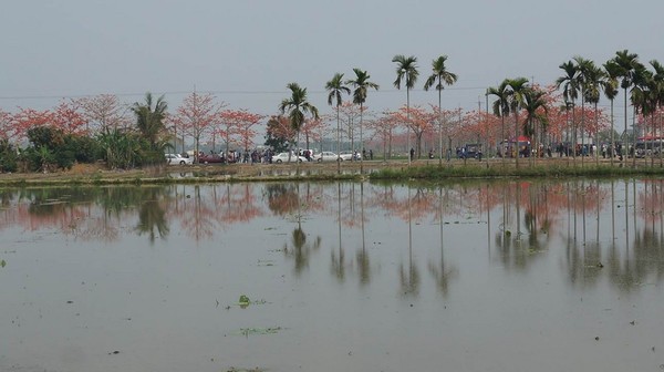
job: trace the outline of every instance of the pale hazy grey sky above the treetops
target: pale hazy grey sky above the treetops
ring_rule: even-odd
[[[405,103],[393,86],[395,54],[415,55],[413,104],[437,104],[422,86],[448,55],[457,84],[443,107],[485,106],[506,78],[552,83],[574,55],[604,63],[629,49],[664,62],[662,0],[3,0],[0,107],[49,108],[60,97],[112,93],[135,102],[212,91],[229,107],[277,113],[286,85],[331,111],[324,84],[367,70],[381,85],[366,105]]]

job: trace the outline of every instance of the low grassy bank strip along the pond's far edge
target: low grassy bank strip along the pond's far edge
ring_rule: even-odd
[[[149,166],[134,169],[107,169],[104,164],[76,164],[53,173],[3,173],[0,186],[164,184],[252,180],[333,180],[404,179],[459,177],[561,177],[561,176],[664,176],[661,158],[632,158],[620,162],[605,158],[519,158],[515,159],[404,159],[302,163]]]

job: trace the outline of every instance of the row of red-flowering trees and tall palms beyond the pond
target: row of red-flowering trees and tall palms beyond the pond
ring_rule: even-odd
[[[637,54],[627,50],[618,51],[601,65],[574,56],[559,65],[561,76],[548,86],[532,84],[526,78],[505,79],[487,89],[484,112],[478,108],[464,115],[460,110],[442,110],[444,87],[458,81],[448,70],[447,55],[432,61],[424,82],[425,91],[432,87],[438,91],[438,104],[429,105],[428,110],[411,106],[409,93],[419,78],[417,58],[397,54],[392,62],[393,85],[405,89],[405,105],[381,114],[367,112],[366,106],[370,92],[380,86],[371,81],[367,71],[357,68],[351,79],[338,72],[325,82],[333,115],[320,115],[308,99],[307,87],[297,82],[287,85],[289,96],[270,117],[248,110],[228,110],[212,94],[197,92],[185,97],[173,114],[168,113],[164,96],[155,99],[151,93],[132,105],[103,94],[63,101],[51,111],[19,107],[12,114],[0,110],[0,167],[2,172],[15,172],[19,164],[24,164],[25,170],[45,172],[50,167],[66,168],[75,162],[100,159],[110,167],[136,167],[162,163],[163,154],[177,152],[178,146],[185,152],[187,140],[194,143],[195,154],[204,142],[211,143],[212,148],[218,142],[220,149],[229,151],[232,146],[249,151],[256,145],[259,124],[266,124],[266,144],[278,149],[300,147],[301,135],[308,148],[310,141],[332,135],[336,151],[341,149],[342,141],[360,149],[370,143],[382,146],[387,158],[393,154],[393,143],[403,148],[405,142],[406,151],[416,147],[417,157],[422,156],[423,147],[429,147],[429,154],[435,147],[440,162],[444,138],[448,148],[453,138],[457,142],[477,138],[495,147],[520,135],[531,137],[535,148],[538,143],[562,141],[584,145],[590,138],[595,144],[603,140],[613,145],[635,140],[637,128],[631,135],[627,128],[627,100],[634,118],[639,117],[642,134],[661,137],[664,66],[653,60],[649,69]],[[616,132],[613,121],[619,89],[623,90],[624,99],[622,133]],[[350,100],[344,100],[346,95]],[[598,105],[602,96],[611,103],[609,116]],[[604,138],[600,138],[602,133]],[[343,138],[344,135],[347,137]]]

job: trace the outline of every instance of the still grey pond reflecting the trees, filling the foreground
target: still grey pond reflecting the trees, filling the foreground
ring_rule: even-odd
[[[0,371],[664,370],[662,179],[0,197]]]

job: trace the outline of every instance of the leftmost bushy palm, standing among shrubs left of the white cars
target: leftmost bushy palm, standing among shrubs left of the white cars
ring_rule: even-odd
[[[164,95],[159,96],[153,104],[151,92],[145,93],[145,103],[135,102],[132,106],[132,111],[136,115],[136,127],[154,151],[162,147],[159,136],[166,130],[164,121],[167,110],[168,103],[164,100]]]

